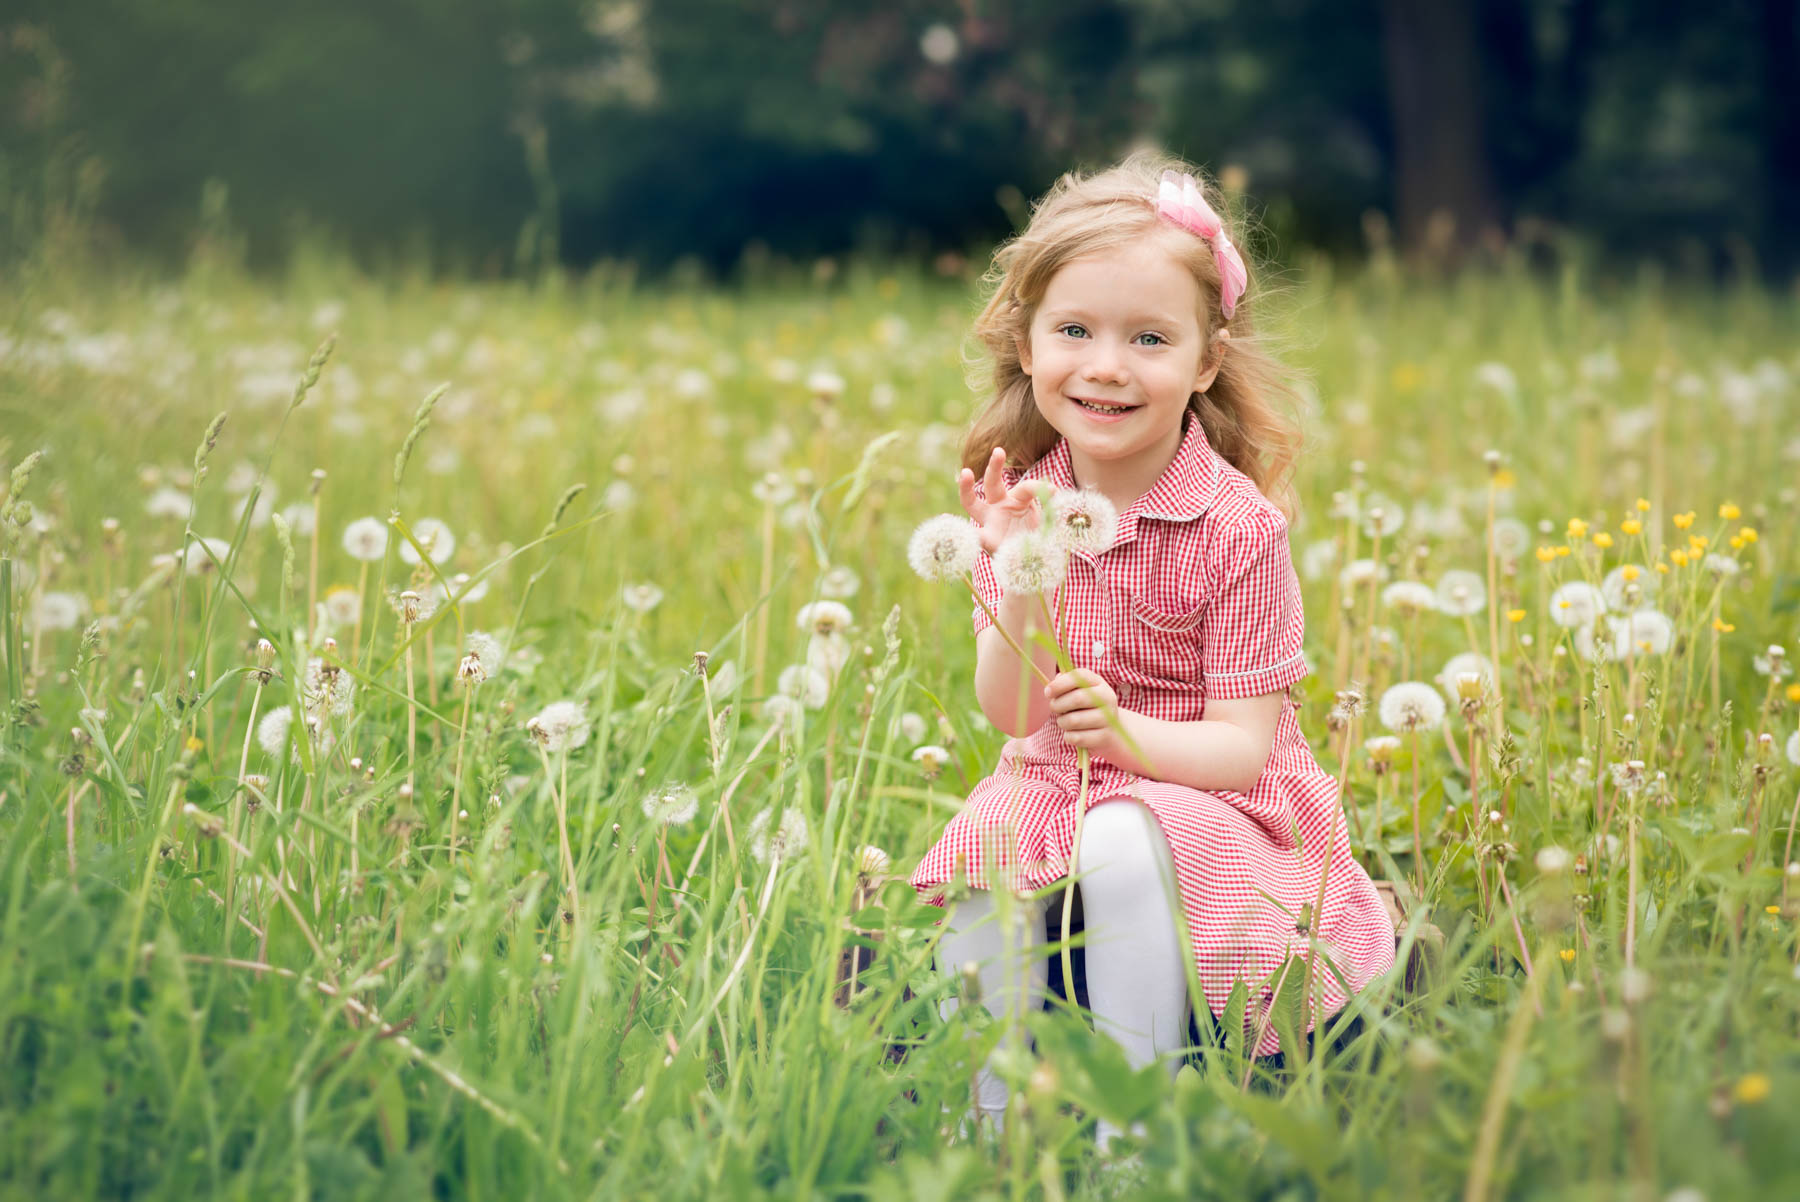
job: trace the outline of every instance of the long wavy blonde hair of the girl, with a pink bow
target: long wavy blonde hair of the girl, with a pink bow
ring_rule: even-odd
[[[963,466],[977,477],[995,446],[1006,448],[1008,466],[1015,468],[1030,466],[1055,446],[1057,430],[1031,399],[1031,376],[1019,363],[1019,345],[1028,344],[1031,317],[1064,263],[1174,229],[1156,212],[1163,171],[1195,176],[1206,202],[1222,216],[1231,243],[1244,254],[1244,239],[1224,196],[1174,155],[1136,151],[1103,171],[1085,176],[1071,171],[1057,180],[1031,207],[1024,232],[994,252],[994,263],[983,275],[992,293],[972,333],[986,351],[976,363],[992,362],[992,392],[963,439]],[[1289,380],[1291,372],[1256,336],[1256,272],[1251,268],[1249,284],[1228,320],[1219,313],[1219,265],[1211,243],[1181,238],[1170,247],[1193,272],[1206,299],[1201,329],[1208,353],[1222,353],[1213,385],[1190,396],[1188,408],[1199,417],[1211,448],[1292,518],[1292,473],[1301,434],[1300,423],[1287,414],[1300,407],[1300,394]],[[1228,344],[1213,340],[1220,329],[1229,333]]]

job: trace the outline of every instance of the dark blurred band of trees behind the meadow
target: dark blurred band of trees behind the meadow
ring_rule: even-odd
[[[934,254],[1150,140],[1264,254],[1800,265],[1800,0],[11,0],[0,252]],[[4,261],[4,259],[0,259]]]

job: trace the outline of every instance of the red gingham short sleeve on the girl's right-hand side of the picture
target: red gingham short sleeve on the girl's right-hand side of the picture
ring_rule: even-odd
[[[1287,520],[1256,513],[1220,533],[1213,556],[1213,594],[1201,617],[1206,696],[1280,693],[1310,671]]]

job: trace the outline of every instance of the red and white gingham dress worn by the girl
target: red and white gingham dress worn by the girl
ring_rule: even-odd
[[[1067,441],[1058,439],[1024,473],[1006,471],[1008,488],[1019,479],[1075,488]],[[999,606],[1001,588],[986,554],[976,563],[976,587],[990,606]],[[1276,693],[1309,671],[1287,520],[1206,443],[1192,412],[1174,462],[1120,513],[1112,547],[1069,558],[1057,603],[1062,646],[1075,664],[1112,684],[1121,709],[1152,718],[1197,722],[1208,696]],[[976,633],[992,624],[979,606],[974,624]],[[1206,1004],[1222,1015],[1233,982],[1244,977],[1251,993],[1247,1036],[1274,999],[1283,961],[1309,954],[1294,916],[1318,898],[1334,828],[1332,871],[1318,919],[1327,955],[1352,990],[1393,966],[1393,921],[1352,855],[1337,781],[1312,758],[1296,709],[1294,702],[1283,705],[1267,767],[1249,794],[1201,792],[1098,758],[1089,763],[1089,808],[1139,799],[1168,837]],[[976,889],[990,887],[983,853],[1001,867],[1019,864],[1021,889],[1067,876],[1078,797],[1076,749],[1055,722],[1008,740],[995,772],[976,785],[914,869],[911,884],[920,900],[943,905],[958,857],[965,857],[965,878]],[[1013,806],[1017,858],[1003,839]],[[1301,964],[1289,972],[1301,972]],[[1348,1000],[1343,986],[1323,966],[1314,977],[1323,979],[1325,1013],[1336,1013]],[[1282,1044],[1271,1022],[1255,1054],[1276,1051]]]

